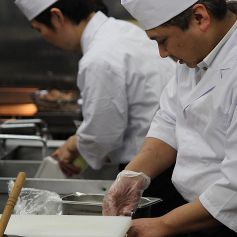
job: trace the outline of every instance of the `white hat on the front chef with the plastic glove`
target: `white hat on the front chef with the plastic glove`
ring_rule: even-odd
[[[198,0],[121,0],[126,10],[149,30],[177,16]]]

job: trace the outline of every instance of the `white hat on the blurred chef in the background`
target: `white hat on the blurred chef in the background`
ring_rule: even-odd
[[[58,0],[16,0],[15,4],[27,19],[31,21],[57,1]]]

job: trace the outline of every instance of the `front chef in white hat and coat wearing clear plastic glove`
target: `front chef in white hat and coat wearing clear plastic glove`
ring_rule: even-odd
[[[122,3],[158,42],[160,55],[179,64],[140,153],[108,191],[103,213],[127,214],[150,177],[175,163],[172,181],[187,204],[135,220],[128,236],[237,236],[236,16],[225,0]]]

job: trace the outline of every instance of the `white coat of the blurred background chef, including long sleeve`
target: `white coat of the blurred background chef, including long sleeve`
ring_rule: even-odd
[[[97,12],[81,40],[78,87],[84,120],[78,150],[94,169],[105,156],[127,163],[139,151],[176,64],[132,23]]]

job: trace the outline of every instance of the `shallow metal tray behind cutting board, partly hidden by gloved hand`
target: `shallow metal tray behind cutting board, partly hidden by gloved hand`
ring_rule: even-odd
[[[63,215],[102,215],[103,194],[72,193],[62,197]],[[149,217],[152,205],[160,198],[142,197],[132,218]]]

